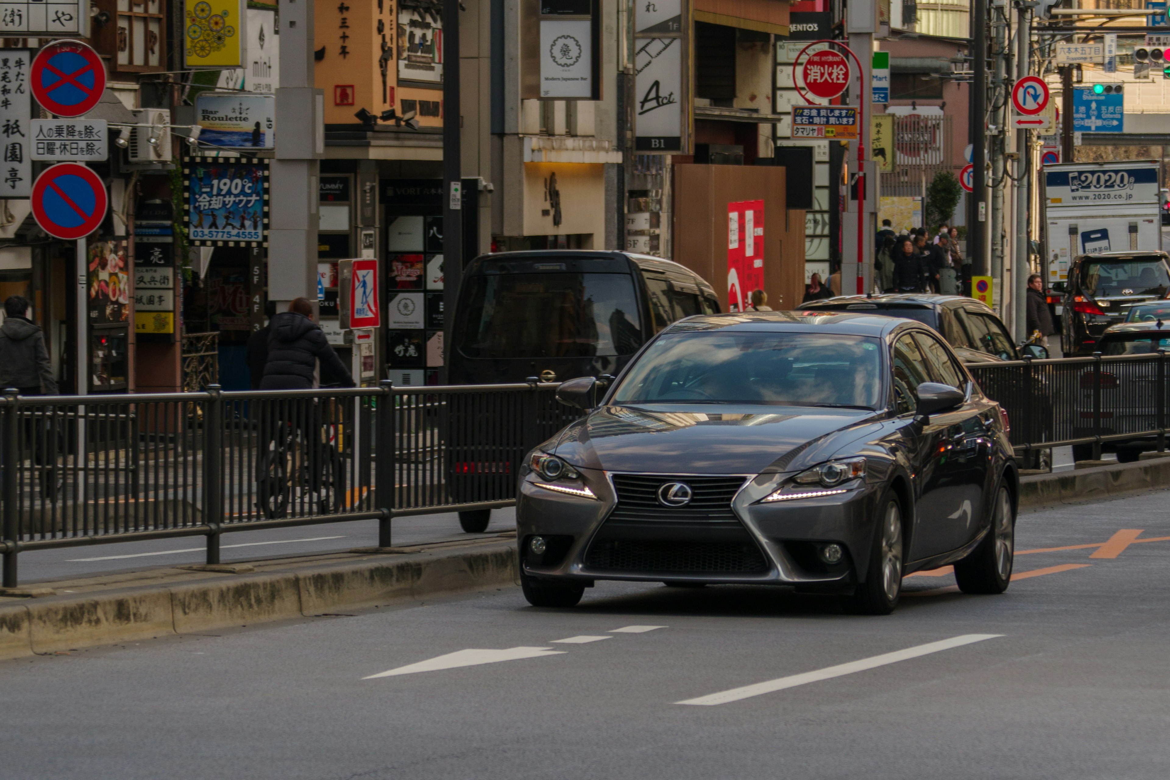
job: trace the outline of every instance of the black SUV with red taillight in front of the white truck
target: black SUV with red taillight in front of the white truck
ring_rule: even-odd
[[[1079,255],[1068,267],[1060,340],[1065,354],[1093,354],[1110,325],[1124,322],[1134,304],[1166,297],[1170,255],[1164,251],[1106,251]]]

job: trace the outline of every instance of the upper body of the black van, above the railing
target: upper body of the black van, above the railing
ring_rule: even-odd
[[[482,255],[463,272],[450,384],[617,374],[674,320],[718,311],[710,284],[660,257],[589,249]]]

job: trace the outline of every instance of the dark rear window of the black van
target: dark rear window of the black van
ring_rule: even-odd
[[[491,274],[468,287],[459,337],[468,358],[592,358],[641,346],[628,274]]]

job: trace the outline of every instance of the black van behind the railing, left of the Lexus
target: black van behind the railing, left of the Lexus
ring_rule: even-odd
[[[676,319],[718,313],[715,290],[679,263],[622,251],[509,251],[476,257],[463,275],[448,367],[453,385],[544,382],[617,375]],[[578,412],[550,401],[528,424],[551,436]],[[468,532],[514,495],[519,461],[537,441],[491,405],[449,401],[447,489],[469,506]],[[518,421],[522,422],[522,421]],[[529,437],[531,434],[529,435]]]

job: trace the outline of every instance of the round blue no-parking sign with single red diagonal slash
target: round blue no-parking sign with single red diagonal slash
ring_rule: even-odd
[[[55,239],[82,239],[105,219],[109,199],[96,173],[77,163],[60,163],[33,182],[33,218]]]

